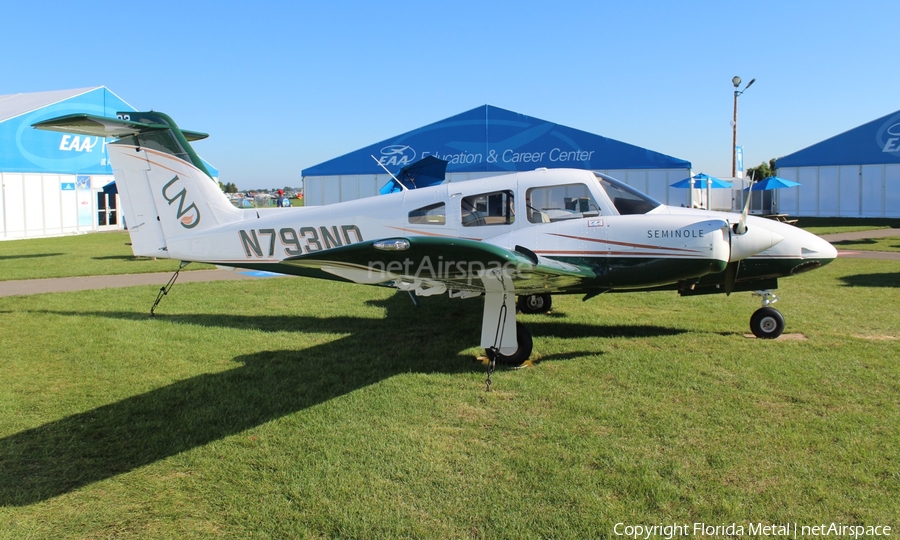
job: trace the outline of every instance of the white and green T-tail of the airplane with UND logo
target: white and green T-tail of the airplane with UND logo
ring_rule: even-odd
[[[206,134],[182,131],[158,112],[118,116],[69,115],[34,127],[118,138],[107,150],[135,255],[180,258],[169,251],[174,240],[243,219],[188,142]]]

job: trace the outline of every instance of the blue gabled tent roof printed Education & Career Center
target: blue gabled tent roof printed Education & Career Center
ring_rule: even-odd
[[[429,124],[303,170],[303,176],[382,174],[434,156],[448,173],[539,167],[690,169],[688,161],[491,105]]]

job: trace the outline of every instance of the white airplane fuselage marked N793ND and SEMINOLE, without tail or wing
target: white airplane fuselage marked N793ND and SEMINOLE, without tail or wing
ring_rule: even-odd
[[[542,200],[531,200],[537,197]],[[526,246],[538,256],[589,266],[597,274],[587,282],[552,287],[543,282],[533,287],[519,284],[520,294],[665,286],[683,292],[724,292],[704,287],[721,281],[731,250],[722,225],[737,223],[739,214],[632,201],[619,204],[637,206],[631,208],[635,213],[623,215],[593,173],[537,170],[320,207],[243,210],[238,222],[197,233],[196,238],[190,232],[170,238],[167,253],[180,260],[344,279],[288,261],[367,240],[464,238],[506,249]],[[789,276],[835,256],[830,244],[791,225],[750,216],[748,226],[754,232],[772,233],[766,241],[775,245],[743,261],[739,283]],[[772,236],[781,240],[770,240]],[[415,270],[428,278],[431,272],[462,262],[444,259],[424,267],[419,263]]]

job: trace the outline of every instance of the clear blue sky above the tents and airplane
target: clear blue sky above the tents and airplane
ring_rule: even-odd
[[[11,2],[0,95],[105,85],[241,189],[490,104],[731,174],[900,109],[896,1]]]

